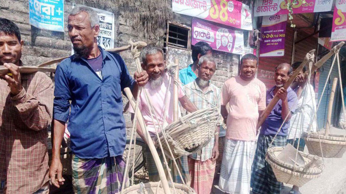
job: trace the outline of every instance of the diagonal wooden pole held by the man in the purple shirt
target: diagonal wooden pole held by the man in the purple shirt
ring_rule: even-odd
[[[314,58],[314,50],[311,50],[309,52],[309,55],[312,56],[311,59],[313,60]],[[297,75],[299,74],[299,72],[303,69],[303,67],[309,62],[309,60],[307,56],[304,58],[303,62],[300,64],[300,66],[293,72],[293,74],[290,76],[290,78],[286,81],[285,85],[283,86],[283,88],[287,89],[292,82],[294,81],[295,77],[297,77]],[[273,97],[272,101],[270,101],[270,103],[268,104],[268,106],[265,108],[265,110],[263,111],[262,115],[261,115],[261,119],[257,124],[257,129],[261,127],[261,125],[263,124],[263,122],[265,121],[265,119],[268,117],[268,115],[270,114],[270,112],[273,110],[274,106],[276,105],[276,103],[280,100],[279,96],[277,94],[275,94],[275,96]]]

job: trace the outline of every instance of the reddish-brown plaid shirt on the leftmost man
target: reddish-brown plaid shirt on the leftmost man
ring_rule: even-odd
[[[42,72],[21,74],[22,91],[10,95],[0,78],[0,193],[34,193],[48,181],[47,126],[53,83]]]

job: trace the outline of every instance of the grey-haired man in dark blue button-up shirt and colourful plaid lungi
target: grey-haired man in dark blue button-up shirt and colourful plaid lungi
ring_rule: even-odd
[[[56,69],[49,175],[55,186],[63,184],[60,146],[69,120],[74,193],[117,193],[126,181],[121,91],[130,87],[136,94],[148,74],[136,72],[134,80],[118,54],[98,47],[99,17],[91,8],[73,8],[67,27],[75,54]]]

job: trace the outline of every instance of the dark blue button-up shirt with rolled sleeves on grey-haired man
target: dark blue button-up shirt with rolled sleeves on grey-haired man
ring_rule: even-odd
[[[99,48],[102,79],[86,59],[75,55],[56,68],[54,119],[69,119],[71,149],[80,158],[122,155],[126,145],[121,91],[135,81],[118,54]]]

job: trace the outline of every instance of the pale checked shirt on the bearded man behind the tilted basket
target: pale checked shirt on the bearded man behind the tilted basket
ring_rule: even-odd
[[[189,97],[191,102],[198,109],[211,107],[211,105],[209,103],[217,106],[218,109],[220,109],[220,107],[221,107],[220,89],[218,87],[216,87],[215,85],[213,85],[209,82],[209,87],[205,93],[203,93],[203,91],[199,88],[196,81],[193,81],[193,82],[191,82],[185,86],[186,87],[183,87],[184,93],[186,94],[186,96]],[[189,90],[188,88],[193,90],[193,92],[191,90]],[[198,95],[206,98],[209,103],[206,100],[199,97]],[[182,111],[182,113],[186,114],[186,110]],[[207,144],[205,147],[203,147],[201,149],[201,151],[199,151],[197,153],[193,153],[193,154],[189,155],[189,157],[193,158],[195,160],[206,161],[207,159],[211,158],[213,147],[214,147],[214,138],[211,138],[209,144]]]

